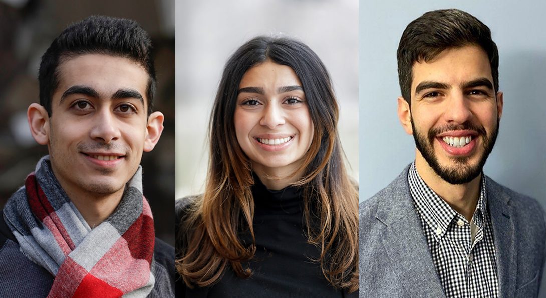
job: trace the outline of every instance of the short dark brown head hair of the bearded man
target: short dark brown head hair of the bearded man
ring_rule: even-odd
[[[493,85],[498,92],[498,49],[491,30],[475,16],[459,9],[432,10],[408,24],[398,45],[398,78],[402,97],[411,104],[412,67],[431,61],[443,50],[477,45],[487,53]]]

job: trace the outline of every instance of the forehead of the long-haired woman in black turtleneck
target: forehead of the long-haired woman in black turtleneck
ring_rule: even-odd
[[[301,82],[291,67],[268,60],[248,69],[242,76],[239,88],[254,86],[267,89],[294,85],[301,86]]]

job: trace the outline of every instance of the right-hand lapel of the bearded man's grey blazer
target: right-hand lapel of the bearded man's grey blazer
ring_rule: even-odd
[[[513,210],[510,197],[500,190],[497,183],[486,176],[487,200],[491,214],[495,253],[497,257],[498,286],[501,297],[514,297],[516,287],[517,250]]]

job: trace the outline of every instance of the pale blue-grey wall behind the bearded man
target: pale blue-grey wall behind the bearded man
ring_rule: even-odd
[[[407,24],[429,10],[459,8],[491,28],[500,53],[504,110],[484,172],[546,207],[546,2],[360,1],[360,201],[387,186],[415,157],[396,116],[396,49]],[[542,283],[541,297],[546,297]]]

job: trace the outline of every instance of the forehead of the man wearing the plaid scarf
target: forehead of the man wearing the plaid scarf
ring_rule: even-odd
[[[59,100],[60,94],[76,85],[91,87],[101,97],[109,97],[120,88],[132,88],[145,97],[148,80],[146,70],[128,58],[94,53],[78,55],[58,66],[58,86],[52,101]]]

